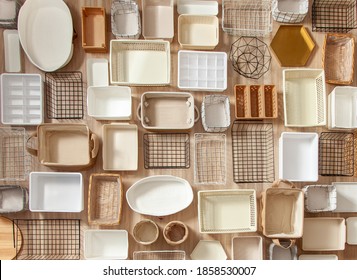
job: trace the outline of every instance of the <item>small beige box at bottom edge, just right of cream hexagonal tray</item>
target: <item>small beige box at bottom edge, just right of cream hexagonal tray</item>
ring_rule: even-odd
[[[233,237],[232,260],[263,260],[263,238],[261,236]]]

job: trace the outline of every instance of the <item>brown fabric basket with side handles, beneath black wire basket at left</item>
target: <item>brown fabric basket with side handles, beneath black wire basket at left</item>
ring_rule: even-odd
[[[99,150],[98,136],[85,124],[41,124],[30,139],[37,139],[37,147],[27,146],[27,151],[39,163],[53,169],[88,169],[95,164]]]

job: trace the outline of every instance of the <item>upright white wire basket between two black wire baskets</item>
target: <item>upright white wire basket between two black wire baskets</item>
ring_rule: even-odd
[[[194,163],[196,184],[225,184],[226,135],[196,133]]]

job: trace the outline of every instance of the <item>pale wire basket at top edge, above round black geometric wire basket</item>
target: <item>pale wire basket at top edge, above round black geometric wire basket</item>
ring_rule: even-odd
[[[270,0],[222,1],[222,29],[229,35],[268,36],[272,25]]]

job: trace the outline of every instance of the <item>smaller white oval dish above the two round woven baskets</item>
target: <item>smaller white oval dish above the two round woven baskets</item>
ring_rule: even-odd
[[[167,216],[187,208],[193,200],[193,192],[182,178],[156,175],[134,183],[126,192],[126,200],[137,213]]]

